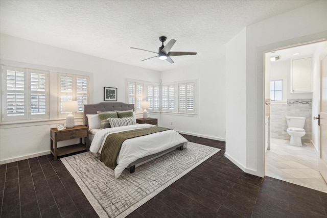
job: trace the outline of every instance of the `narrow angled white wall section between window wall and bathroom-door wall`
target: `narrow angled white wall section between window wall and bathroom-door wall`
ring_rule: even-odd
[[[246,29],[226,44],[226,152],[241,169],[246,167]],[[242,90],[242,91],[240,91]],[[234,119],[233,117],[238,117]]]

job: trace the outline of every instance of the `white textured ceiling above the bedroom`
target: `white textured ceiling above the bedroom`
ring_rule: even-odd
[[[224,56],[224,44],[246,26],[315,1],[99,1],[0,0],[0,32],[92,56],[164,71]],[[152,58],[161,42],[171,51],[197,52]],[[165,43],[165,44],[166,44]]]

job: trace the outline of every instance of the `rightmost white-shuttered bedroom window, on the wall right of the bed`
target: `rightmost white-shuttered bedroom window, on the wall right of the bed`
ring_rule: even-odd
[[[178,112],[195,113],[195,83],[178,84]]]

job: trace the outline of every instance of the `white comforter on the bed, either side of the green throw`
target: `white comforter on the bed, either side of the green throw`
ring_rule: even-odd
[[[107,138],[107,135],[116,132],[127,130],[142,129],[153,127],[151,124],[136,124],[124,127],[106,128],[102,129],[95,135],[92,140],[90,151],[93,153],[100,153]],[[136,138],[127,139],[123,142],[121,151],[117,158],[117,166],[114,169],[115,178],[118,178],[124,169],[132,162],[139,158],[148,155],[156,154],[165,151],[177,144],[183,143],[183,147],[187,146],[187,140],[174,130],[167,130],[157,132],[150,135],[140,136]]]

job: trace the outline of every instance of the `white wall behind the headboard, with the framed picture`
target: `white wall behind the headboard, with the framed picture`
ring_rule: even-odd
[[[118,101],[125,101],[125,78],[159,82],[160,72],[76,53],[8,35],[0,35],[1,64],[50,70],[51,120],[0,125],[0,164],[50,154],[50,128],[57,119],[57,72],[90,76],[90,103],[103,102],[103,87],[117,87]],[[82,119],[76,119],[81,125]]]

